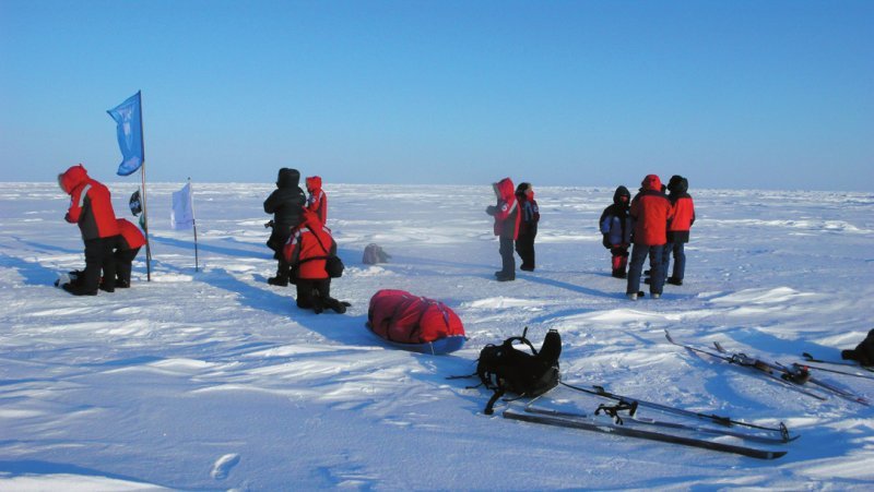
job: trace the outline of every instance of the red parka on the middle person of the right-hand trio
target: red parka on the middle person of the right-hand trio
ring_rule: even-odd
[[[668,220],[673,216],[671,201],[662,193],[662,181],[649,175],[640,183],[642,190],[631,201],[629,215],[634,221],[635,244],[662,245],[668,242]]]

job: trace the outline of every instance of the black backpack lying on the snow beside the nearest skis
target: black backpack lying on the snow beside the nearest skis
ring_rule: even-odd
[[[476,363],[476,375],[483,385],[495,392],[485,406],[485,415],[494,413],[495,401],[505,393],[515,393],[519,397],[542,395],[558,385],[558,356],[562,355],[562,337],[555,329],[550,329],[543,339],[540,352],[531,345],[525,334],[510,337],[500,345],[487,345],[480,352]],[[519,341],[531,350],[517,349]]]

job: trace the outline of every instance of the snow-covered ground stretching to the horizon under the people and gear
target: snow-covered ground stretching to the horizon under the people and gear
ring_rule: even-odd
[[[499,178],[499,177],[496,177]],[[619,183],[616,183],[619,184]],[[635,189],[636,182],[625,183]],[[135,180],[113,183],[130,217]],[[694,185],[694,180],[693,180]],[[261,204],[269,184],[194,182],[190,231],[169,229],[170,193],[150,184],[152,281],[75,298],[52,287],[83,265],[68,197],[54,183],[0,183],[0,489],[870,490],[874,410],[818,401],[678,340],[783,363],[839,358],[872,323],[874,194],[690,190],[698,220],[682,287],[625,298],[597,220],[613,188],[536,187],[538,269],[496,283],[498,244],[481,187],[327,185],[346,273],[344,315],[294,307],[267,285]],[[361,263],[376,242],[391,263]],[[388,348],[365,328],[370,296],[439,299],[468,345],[435,357]],[[447,380],[487,344],[563,337],[567,383],[719,413],[801,437],[764,461],[503,419],[489,392]],[[814,373],[874,398],[874,381]],[[543,406],[609,403],[559,386]],[[676,419],[641,408],[641,417]],[[706,424],[702,421],[689,423]]]

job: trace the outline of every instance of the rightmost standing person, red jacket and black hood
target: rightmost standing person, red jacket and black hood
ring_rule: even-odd
[[[682,286],[683,276],[686,273],[686,251],[685,244],[689,242],[689,229],[695,224],[695,204],[692,195],[687,193],[689,182],[682,176],[671,177],[668,182],[668,199],[673,205],[673,218],[668,225],[668,243],[664,245],[662,263],[664,275],[668,276],[668,268],[671,265],[671,254],[674,255],[674,271],[665,279],[668,284]]]

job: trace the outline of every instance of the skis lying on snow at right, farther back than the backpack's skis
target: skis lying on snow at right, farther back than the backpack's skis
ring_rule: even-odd
[[[815,392],[813,389],[808,389],[807,387],[803,387],[805,383],[814,384],[818,386],[819,391],[826,391],[828,392],[828,394],[839,396],[847,400],[864,406],[871,406],[871,403],[867,399],[859,395],[855,395],[847,389],[837,387],[830,383],[826,383],[824,381],[811,376],[810,372],[804,365],[793,364],[790,368],[779,362],[767,362],[761,359],[752,358],[745,353],[730,353],[728,350],[722,348],[722,346],[719,343],[713,344],[716,351],[704,349],[700,347],[694,347],[687,344],[681,344],[675,341],[673,337],[671,337],[671,333],[668,329],[664,331],[664,336],[665,338],[668,338],[668,341],[678,347],[683,347],[694,352],[705,353],[716,359],[720,359],[732,364],[747,368],[770,379],[771,381],[780,383],[787,388],[790,388],[803,395],[811,396],[818,400],[826,400],[828,399],[828,397],[819,392]]]

